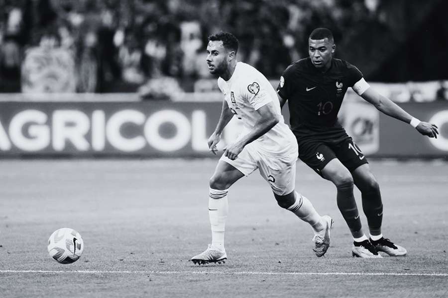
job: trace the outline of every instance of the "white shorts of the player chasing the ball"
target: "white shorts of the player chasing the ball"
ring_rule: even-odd
[[[296,183],[297,143],[291,142],[281,151],[266,151],[261,142],[247,144],[235,160],[221,156],[220,160],[231,164],[245,176],[259,169],[261,176],[269,182],[272,191],[280,196],[294,191]]]

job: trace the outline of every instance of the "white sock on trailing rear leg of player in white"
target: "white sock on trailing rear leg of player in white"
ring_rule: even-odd
[[[297,215],[302,221],[311,225],[315,232],[320,232],[325,228],[322,217],[314,209],[313,204],[301,194],[295,192],[296,202],[288,210]]]

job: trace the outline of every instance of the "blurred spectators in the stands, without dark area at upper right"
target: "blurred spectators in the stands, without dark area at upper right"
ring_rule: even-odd
[[[69,53],[77,92],[135,91],[155,78],[192,91],[210,77],[207,36],[219,30],[238,37],[239,60],[276,78],[308,55],[313,28],[326,24],[336,40],[352,36],[358,24],[384,23],[382,2],[0,0],[0,92],[20,92],[32,79],[22,66],[33,48]]]

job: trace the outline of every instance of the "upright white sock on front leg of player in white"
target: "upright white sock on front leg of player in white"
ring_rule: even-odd
[[[224,249],[224,227],[228,213],[228,189],[218,190],[210,188],[209,218],[212,226],[212,246]]]

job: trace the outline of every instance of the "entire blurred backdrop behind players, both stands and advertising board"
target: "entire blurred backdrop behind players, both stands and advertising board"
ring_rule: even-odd
[[[3,155],[206,154],[223,99],[207,36],[232,32],[238,60],[276,87],[308,56],[311,31],[327,27],[336,58],[441,126],[438,143],[414,139],[349,89],[339,118],[365,153],[447,158],[446,0],[0,0],[0,11]],[[387,147],[402,131],[403,149]]]

